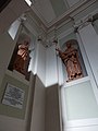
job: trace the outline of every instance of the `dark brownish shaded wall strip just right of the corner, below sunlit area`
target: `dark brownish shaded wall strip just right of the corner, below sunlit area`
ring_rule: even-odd
[[[58,85],[46,88],[45,131],[60,131],[60,110]]]

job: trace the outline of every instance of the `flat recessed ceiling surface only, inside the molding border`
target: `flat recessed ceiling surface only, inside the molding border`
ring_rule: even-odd
[[[49,23],[82,0],[35,0],[33,7]]]

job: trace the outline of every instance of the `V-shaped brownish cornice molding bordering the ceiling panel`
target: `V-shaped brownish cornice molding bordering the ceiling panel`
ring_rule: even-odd
[[[60,24],[64,23],[65,21],[70,20],[70,16],[75,16],[83,10],[87,9],[89,5],[94,4],[97,0],[83,0],[82,2],[78,2],[77,4],[73,5],[71,9],[69,9],[65,13],[63,13],[58,19],[53,20],[52,22],[48,23],[44,16],[36,10],[34,5],[32,5],[32,10],[37,15],[37,17],[41,21],[41,24],[45,26],[45,28],[50,29],[53,26],[60,26]]]

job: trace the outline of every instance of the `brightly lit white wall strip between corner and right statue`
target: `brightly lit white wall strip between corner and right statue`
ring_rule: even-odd
[[[46,50],[46,86],[58,83],[57,55],[54,46]]]

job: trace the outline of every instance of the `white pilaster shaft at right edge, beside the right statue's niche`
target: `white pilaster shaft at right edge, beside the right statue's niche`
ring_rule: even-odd
[[[98,84],[98,35],[89,24],[78,31],[82,38],[89,66]]]

